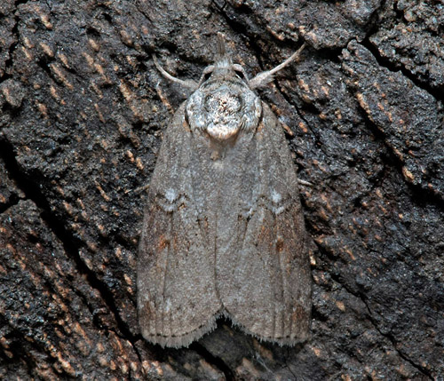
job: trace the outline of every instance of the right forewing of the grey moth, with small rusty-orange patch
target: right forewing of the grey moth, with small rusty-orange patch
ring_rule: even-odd
[[[242,185],[234,194],[229,181],[221,186],[233,197],[222,199],[219,210],[229,202],[237,208],[224,217],[226,232],[218,232],[227,234],[218,250],[217,284],[235,323],[292,345],[309,333],[312,280],[295,165],[280,123],[262,107],[263,120],[243,156],[250,163],[234,163]]]

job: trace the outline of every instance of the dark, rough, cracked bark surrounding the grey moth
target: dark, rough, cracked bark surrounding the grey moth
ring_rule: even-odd
[[[218,31],[250,75],[309,45],[260,91],[313,184],[305,345],[139,333],[140,187],[188,95],[151,54],[198,79]],[[443,379],[443,35],[441,2],[3,0],[0,378]]]

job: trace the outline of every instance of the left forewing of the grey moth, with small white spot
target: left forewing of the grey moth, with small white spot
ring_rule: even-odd
[[[214,256],[196,216],[190,144],[182,105],[164,134],[139,243],[139,321],[160,345],[188,345],[214,328],[221,309]]]

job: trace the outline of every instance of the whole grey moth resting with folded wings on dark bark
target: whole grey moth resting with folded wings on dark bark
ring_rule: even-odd
[[[255,89],[296,60],[248,79],[218,35],[214,65],[164,133],[144,212],[139,324],[149,342],[189,345],[225,315],[279,345],[310,330],[312,281],[296,167]]]

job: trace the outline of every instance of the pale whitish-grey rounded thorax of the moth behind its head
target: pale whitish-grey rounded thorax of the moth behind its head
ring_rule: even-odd
[[[261,114],[260,99],[241,80],[207,81],[186,102],[191,130],[206,131],[219,141],[255,129]]]

